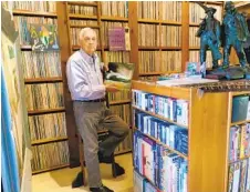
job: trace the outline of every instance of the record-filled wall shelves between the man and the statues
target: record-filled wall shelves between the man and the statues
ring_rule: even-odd
[[[128,22],[132,28],[133,60],[136,63],[135,79],[154,79],[160,74],[183,71],[188,49],[186,41],[181,41],[186,36],[187,6],[188,2],[128,3],[128,16],[133,17]],[[166,12],[170,7],[171,11]]]

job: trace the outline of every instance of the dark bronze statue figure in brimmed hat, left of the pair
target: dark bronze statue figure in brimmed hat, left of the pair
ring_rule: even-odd
[[[212,69],[217,69],[218,60],[222,58],[219,48],[220,48],[220,22],[213,18],[216,12],[215,8],[208,8],[204,6],[201,2],[196,2],[201,8],[204,8],[206,12],[206,17],[202,19],[199,24],[199,29],[196,33],[197,37],[200,38],[200,62],[206,62],[206,54],[208,48],[211,50],[212,54]]]

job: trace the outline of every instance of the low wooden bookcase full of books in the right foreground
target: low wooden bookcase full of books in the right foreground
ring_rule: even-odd
[[[248,162],[250,161],[250,151],[249,151],[249,131],[246,131],[247,124],[248,129],[250,127],[249,119],[240,120],[237,122],[231,122],[232,117],[232,100],[235,97],[247,95],[248,97],[248,110],[250,109],[250,92],[249,91],[240,91],[240,92],[205,92],[201,97],[197,94],[198,88],[183,88],[183,87],[164,87],[156,84],[156,82],[145,82],[145,81],[133,81],[133,128],[134,128],[134,166],[135,166],[135,178],[134,186],[139,188],[144,184],[150,183],[150,188],[153,191],[164,191],[160,181],[157,180],[157,175],[163,172],[158,169],[158,164],[163,162],[162,155],[165,153],[158,153],[157,149],[166,149],[169,153],[177,154],[178,159],[181,158],[180,162],[187,161],[187,179],[184,182],[187,183],[186,190],[179,191],[188,191],[188,192],[207,192],[207,191],[217,191],[217,192],[227,192],[229,189],[241,188],[246,191],[250,190],[250,180],[247,178],[247,172],[250,172],[250,166],[248,166]],[[149,94],[147,94],[149,93]],[[158,98],[154,98],[154,101],[158,101],[158,104],[153,104],[150,95],[157,95]],[[139,95],[139,97],[138,97]],[[160,97],[170,98],[177,100],[185,100],[188,103],[188,124],[185,127],[184,123],[179,123],[178,119],[173,122],[169,118],[164,117],[166,107],[164,103],[166,100],[159,99]],[[148,104],[143,104],[145,101]],[[140,103],[140,104],[138,104]],[[152,107],[154,105],[156,111],[152,111]],[[178,109],[178,107],[177,107]],[[241,108],[242,109],[242,108]],[[164,112],[160,112],[164,111]],[[185,111],[185,110],[184,110]],[[183,111],[183,112],[184,112]],[[237,112],[237,111],[236,111]],[[142,113],[142,114],[139,114]],[[248,112],[249,113],[249,112]],[[181,114],[181,113],[179,113]],[[179,115],[177,114],[177,115]],[[249,115],[249,114],[248,114]],[[140,120],[139,118],[140,117]],[[157,121],[156,121],[157,119]],[[140,123],[138,123],[140,121]],[[178,128],[186,129],[188,132],[188,153],[184,154],[181,150],[177,150],[175,148],[170,148],[170,144],[166,142],[160,134],[165,133],[163,130],[164,127],[155,125],[154,123],[145,122],[157,122],[157,123],[170,123],[171,129],[173,125],[177,125]],[[150,125],[149,125],[150,124]],[[170,125],[168,124],[169,129]],[[242,138],[247,138],[244,144],[246,153],[238,154],[235,161],[229,160],[229,154],[232,153],[231,146],[231,129],[232,127],[239,125],[239,130],[243,130],[238,132],[238,148],[242,153]],[[157,129],[156,129],[157,128]],[[159,131],[160,128],[160,131]],[[171,130],[170,129],[170,130]],[[155,130],[157,130],[158,135]],[[178,131],[178,129],[177,129]],[[175,137],[177,131],[174,132]],[[169,132],[166,132],[168,137]],[[138,137],[139,135],[139,137]],[[169,133],[171,135],[171,133]],[[244,135],[244,137],[242,137]],[[242,138],[240,138],[242,137]],[[143,138],[143,139],[142,139]],[[145,139],[146,138],[146,139]],[[179,139],[180,140],[180,139]],[[183,139],[181,139],[183,140]],[[177,140],[175,140],[177,141]],[[144,149],[145,151],[139,151]],[[148,152],[148,145],[145,143],[156,144],[154,148],[152,146],[150,152]],[[160,145],[162,148],[158,148]],[[181,149],[181,148],[179,148]],[[146,151],[147,150],[147,151]],[[154,151],[154,153],[153,153]],[[237,151],[237,149],[236,149]],[[155,155],[155,163],[150,162],[152,154]],[[160,154],[160,155],[159,155]],[[147,163],[143,160],[147,160]],[[140,161],[142,160],[142,161]],[[185,160],[185,161],[184,161]],[[138,162],[142,162],[138,165]],[[169,159],[170,161],[170,159]],[[176,160],[177,161],[177,160]],[[146,163],[146,164],[144,164]],[[175,162],[176,163],[176,162]],[[153,165],[153,166],[152,166]],[[162,164],[163,165],[163,164]],[[168,168],[165,164],[166,169]],[[171,166],[174,169],[174,166]],[[181,165],[178,166],[178,171],[184,176],[184,172],[180,171]],[[155,172],[153,171],[155,169]],[[174,169],[175,170],[175,169]],[[242,171],[243,170],[243,171]],[[238,171],[238,172],[237,172]],[[240,172],[239,172],[240,171]],[[169,172],[169,170],[168,170]],[[155,174],[154,174],[155,173]],[[139,179],[138,179],[139,178]],[[162,181],[164,176],[162,176]],[[238,181],[239,180],[239,181]],[[173,180],[173,189],[177,188],[176,183],[181,183],[179,179],[174,178]],[[246,188],[242,188],[246,184]],[[166,183],[165,183],[166,185]],[[180,185],[178,186],[180,188]],[[183,186],[180,188],[183,189]],[[237,190],[238,191],[238,190]]]

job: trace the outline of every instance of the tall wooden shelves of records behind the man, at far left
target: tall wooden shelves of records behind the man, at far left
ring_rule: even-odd
[[[55,7],[48,1],[15,1],[12,7],[20,37],[33,174],[69,165],[60,51],[32,51],[24,32],[30,23],[58,26]]]

